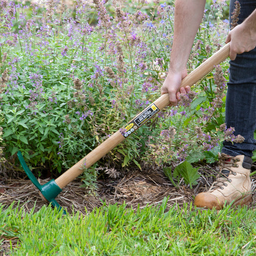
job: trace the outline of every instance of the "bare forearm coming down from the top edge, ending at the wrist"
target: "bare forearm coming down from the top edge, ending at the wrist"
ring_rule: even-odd
[[[170,70],[186,68],[191,47],[202,21],[205,0],[176,0]]]

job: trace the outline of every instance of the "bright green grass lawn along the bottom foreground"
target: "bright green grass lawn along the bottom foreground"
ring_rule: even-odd
[[[143,209],[105,205],[85,216],[2,206],[0,246],[15,242],[7,255],[255,255],[254,210],[185,204],[167,211],[166,202]]]

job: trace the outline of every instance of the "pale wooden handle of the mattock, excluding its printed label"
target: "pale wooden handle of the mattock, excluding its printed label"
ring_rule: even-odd
[[[189,75],[187,75],[181,81],[181,87],[192,86],[196,82],[198,82],[201,78],[210,73],[211,70],[214,69],[214,66],[219,65],[222,61],[227,59],[229,56],[229,43],[223,46],[218,52],[214,53],[212,57],[203,62],[199,67],[197,67],[194,71],[192,71]],[[166,106],[170,104],[169,94],[163,94],[157,100],[154,101],[152,105],[155,105],[159,110],[162,110]],[[150,105],[150,106],[152,106]],[[145,109],[147,110],[147,108]],[[143,111],[145,111],[143,110]],[[141,113],[143,113],[141,111]],[[139,117],[140,114],[135,116],[129,123],[131,123],[134,119]],[[105,156],[109,151],[115,148],[119,143],[125,140],[124,135],[117,131],[107,140],[103,141],[97,148],[93,149],[89,154],[87,154],[84,158],[82,158],[79,162],[73,165],[69,170],[60,175],[59,178],[55,180],[57,185],[62,189],[69,182],[73,181],[79,175],[81,175],[84,171],[84,168],[89,168],[94,163],[99,161],[100,158]]]

